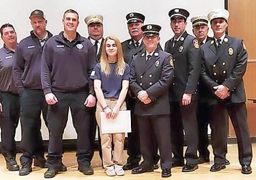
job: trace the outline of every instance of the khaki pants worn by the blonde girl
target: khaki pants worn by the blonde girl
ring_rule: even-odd
[[[107,105],[113,109],[117,99],[116,98],[106,98]],[[120,110],[126,110],[125,102],[121,106]],[[96,107],[96,120],[100,127],[100,138],[102,146],[102,161],[103,167],[108,168],[121,168],[123,166],[123,147],[125,140],[125,133],[114,133],[114,134],[102,134],[101,133],[101,123],[100,123],[100,112],[103,112],[102,106],[97,102]],[[112,142],[114,144],[113,160],[112,160]]]

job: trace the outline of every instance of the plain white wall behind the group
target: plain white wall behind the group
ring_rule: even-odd
[[[129,37],[125,16],[130,12],[140,12],[146,16],[144,24],[155,23],[161,25],[161,46],[174,34],[170,29],[169,10],[175,7],[187,9],[190,16],[187,20],[187,31],[192,34],[190,19],[194,15],[207,15],[214,9],[224,7],[224,0],[12,0],[1,1],[0,25],[11,23],[17,32],[18,41],[29,35],[31,28],[28,19],[31,11],[41,9],[48,20],[47,29],[54,35],[63,30],[61,19],[67,9],[74,9],[79,13],[79,27],[77,31],[87,37],[87,26],[84,17],[100,13],[104,16],[104,36],[115,35],[121,41]],[[212,32],[210,31],[210,35]],[[0,42],[0,47],[3,42]],[[49,139],[47,128],[42,123],[44,140]],[[64,139],[74,139],[76,133],[72,127],[71,117],[64,133]],[[17,128],[16,140],[20,140],[20,125]]]

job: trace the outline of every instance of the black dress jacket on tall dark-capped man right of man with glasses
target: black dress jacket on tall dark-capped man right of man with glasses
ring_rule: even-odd
[[[171,101],[181,101],[184,93],[196,94],[200,76],[201,52],[197,39],[185,31],[172,47],[174,37],[165,43],[165,51],[173,56],[174,78],[170,86]],[[197,42],[197,44],[195,44]]]

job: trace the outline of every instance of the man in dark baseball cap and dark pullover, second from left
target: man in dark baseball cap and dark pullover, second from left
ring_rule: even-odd
[[[41,136],[41,111],[46,120],[47,104],[40,82],[41,56],[44,43],[52,36],[46,31],[47,20],[43,11],[34,10],[30,15],[33,31],[21,40],[15,50],[13,79],[20,95],[21,143],[23,155],[19,175],[28,175],[34,165],[46,168]]]

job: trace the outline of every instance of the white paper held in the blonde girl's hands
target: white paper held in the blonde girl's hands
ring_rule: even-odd
[[[115,119],[107,119],[105,112],[100,112],[101,133],[131,133],[131,111],[120,110]]]

